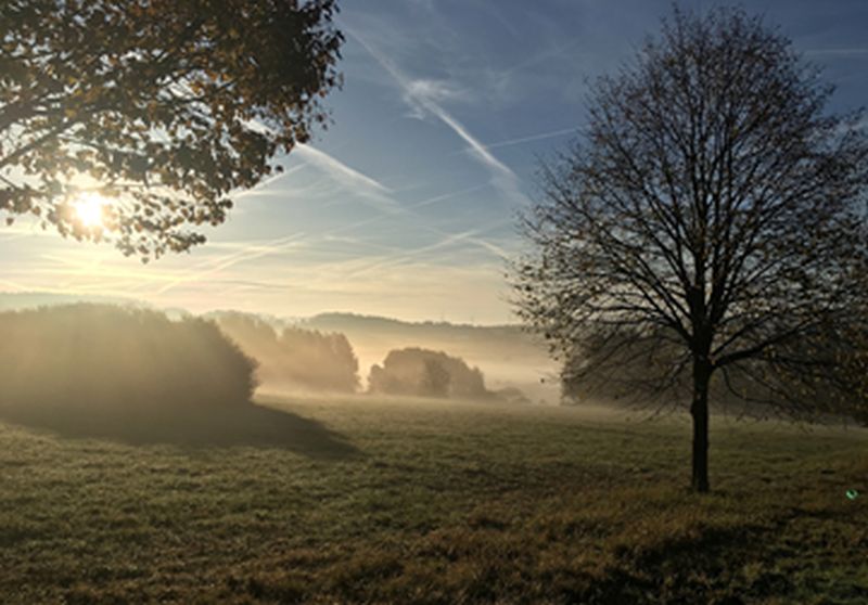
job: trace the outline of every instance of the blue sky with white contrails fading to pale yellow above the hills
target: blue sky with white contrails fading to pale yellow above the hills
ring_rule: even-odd
[[[584,123],[588,82],[634,55],[669,0],[343,1],[332,124],[234,196],[189,254],[142,265],[106,244],[0,228],[0,291],[135,298],[193,312],[327,311],[514,323],[505,260],[540,157]],[[689,0],[687,9],[715,3]],[[753,0],[835,85],[868,103],[868,2]]]

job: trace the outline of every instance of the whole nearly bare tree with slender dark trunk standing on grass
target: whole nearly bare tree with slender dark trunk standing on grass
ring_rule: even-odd
[[[524,217],[521,316],[572,358],[567,379],[689,394],[698,491],[713,376],[800,417],[859,400],[868,142],[831,93],[761,18],[676,10],[596,83]]]

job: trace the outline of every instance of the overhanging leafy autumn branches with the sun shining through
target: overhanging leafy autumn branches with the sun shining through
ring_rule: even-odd
[[[203,242],[195,226],[222,222],[231,191],[327,121],[335,11],[334,0],[0,3],[8,222],[28,213],[78,240],[111,232],[143,258]]]

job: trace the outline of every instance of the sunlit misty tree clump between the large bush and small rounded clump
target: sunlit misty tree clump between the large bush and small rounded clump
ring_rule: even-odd
[[[214,318],[257,360],[257,376],[266,388],[354,392],[359,386],[358,360],[343,334],[292,326],[278,331],[256,316],[239,312]]]

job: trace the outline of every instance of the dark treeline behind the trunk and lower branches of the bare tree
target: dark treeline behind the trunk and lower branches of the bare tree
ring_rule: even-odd
[[[692,364],[677,338],[666,331],[600,332],[564,355],[564,399],[684,400]],[[710,402],[760,415],[787,409],[805,420],[845,415],[868,424],[868,327],[782,342],[762,359],[727,365],[712,378]]]

